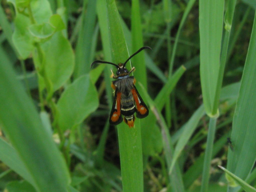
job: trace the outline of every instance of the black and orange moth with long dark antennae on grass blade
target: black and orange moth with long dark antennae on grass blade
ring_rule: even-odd
[[[150,47],[142,47],[132,54],[124,63],[111,63],[108,61],[93,61],[91,67],[94,63],[107,63],[114,65],[118,70],[116,71],[116,76],[112,72],[112,81],[111,87],[115,90],[114,102],[110,112],[109,123],[111,125],[118,125],[123,120],[131,128],[134,125],[136,112],[136,117],[142,119],[148,115],[148,108],[144,101],[142,100],[140,94],[138,93],[135,87],[135,78],[130,76],[130,73],[135,70],[133,67],[130,71],[125,68],[125,64],[136,54],[138,54],[143,49],[151,49]],[[124,118],[122,118],[122,115]]]

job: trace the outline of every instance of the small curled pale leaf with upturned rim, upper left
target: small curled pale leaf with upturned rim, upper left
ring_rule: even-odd
[[[29,25],[29,32],[34,37],[44,39],[54,34],[55,28],[49,23]]]

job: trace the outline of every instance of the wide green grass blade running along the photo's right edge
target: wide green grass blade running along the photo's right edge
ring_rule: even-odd
[[[231,141],[234,150],[228,151],[227,169],[241,179],[246,179],[255,159],[256,145],[256,14],[246,62],[243,70],[241,87],[234,113]],[[246,163],[244,163],[246,162]],[[230,189],[233,191],[233,189]]]

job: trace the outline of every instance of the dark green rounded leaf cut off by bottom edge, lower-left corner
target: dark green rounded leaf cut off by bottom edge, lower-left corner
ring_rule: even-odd
[[[27,181],[12,181],[7,184],[8,192],[36,192],[35,188]]]

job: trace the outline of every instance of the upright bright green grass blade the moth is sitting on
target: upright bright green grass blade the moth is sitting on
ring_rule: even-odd
[[[124,62],[128,51],[115,1],[107,0],[107,19],[110,38],[112,62]],[[127,65],[131,68],[131,65]],[[143,191],[143,165],[140,120],[129,129],[121,123],[118,126],[119,152],[123,191]]]

